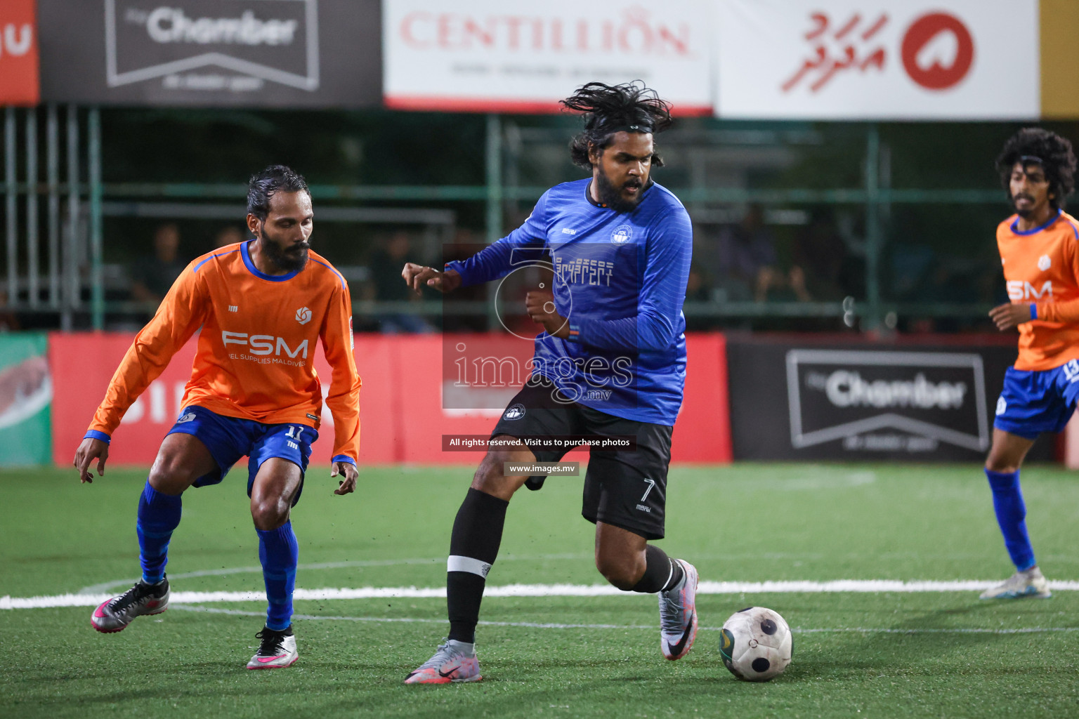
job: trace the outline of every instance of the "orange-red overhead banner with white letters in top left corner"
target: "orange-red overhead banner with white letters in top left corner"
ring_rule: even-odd
[[[3,0],[0,2],[0,105],[37,105],[39,87],[35,0]]]

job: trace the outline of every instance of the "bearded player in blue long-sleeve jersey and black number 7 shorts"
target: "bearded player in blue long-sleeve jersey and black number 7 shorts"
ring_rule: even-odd
[[[641,84],[589,83],[562,103],[584,113],[571,146],[590,177],[551,188],[520,227],[442,272],[407,264],[416,291],[487,282],[546,251],[552,293],[530,292],[542,324],[533,372],[495,425],[492,444],[453,523],[447,563],[450,633],[406,683],[480,679],[475,634],[488,571],[514,493],[543,476],[504,473],[506,462],[560,460],[570,447],[532,450],[521,438],[627,437],[636,446],[591,450],[582,514],[596,524],[596,567],[627,592],[658,594],[660,649],[684,656],[697,633],[697,570],[648,540],[664,537],[671,430],[685,384],[682,304],[693,234],[689,216],[653,182],[653,136],[670,106]]]

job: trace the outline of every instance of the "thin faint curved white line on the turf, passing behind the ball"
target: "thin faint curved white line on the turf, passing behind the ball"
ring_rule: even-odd
[[[265,617],[264,611],[243,611],[241,609],[220,609],[217,607],[169,606],[169,609],[180,611],[197,611],[211,614],[232,614],[236,617]],[[292,619],[306,621],[330,622],[384,622],[410,624],[446,624],[445,619],[420,619],[414,617],[332,617],[327,614],[292,614]],[[655,632],[655,624],[562,624],[556,622],[484,622],[487,626],[521,626],[531,630],[646,630]],[[720,626],[701,626],[702,632],[719,632]],[[896,627],[838,627],[838,628],[805,628],[791,627],[794,634],[1043,634],[1047,632],[1079,632],[1079,626],[1028,626],[1022,628],[986,630],[967,627],[929,627],[919,630],[901,630]]]

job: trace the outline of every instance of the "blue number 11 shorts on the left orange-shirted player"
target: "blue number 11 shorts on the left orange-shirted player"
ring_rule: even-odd
[[[299,467],[301,472],[306,472],[308,461],[311,460],[311,445],[318,439],[318,432],[306,425],[263,425],[252,419],[226,417],[201,406],[189,406],[180,411],[180,418],[168,430],[168,434],[177,432],[197,438],[217,462],[218,468],[200,476],[193,486],[218,484],[241,457],[247,456],[248,497],[251,496],[255,475],[267,459],[287,459]],[[300,501],[301,492],[302,474],[300,486],[292,497],[293,507]]]

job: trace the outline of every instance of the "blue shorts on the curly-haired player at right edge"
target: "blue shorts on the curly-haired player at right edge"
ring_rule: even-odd
[[[1052,370],[1028,372],[1008,368],[997,400],[993,426],[1028,440],[1058,432],[1071,418],[1079,399],[1079,361]]]

